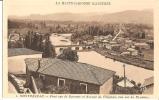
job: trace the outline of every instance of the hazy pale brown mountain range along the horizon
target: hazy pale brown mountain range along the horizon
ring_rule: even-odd
[[[116,13],[54,13],[47,15],[9,16],[11,19],[52,20],[52,21],[96,21],[105,23],[153,24],[153,10],[126,10]]]

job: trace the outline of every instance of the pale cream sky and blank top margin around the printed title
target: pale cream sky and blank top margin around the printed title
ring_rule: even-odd
[[[56,5],[56,1],[91,1],[110,2],[111,5],[101,6],[68,6]],[[31,14],[53,14],[60,12],[87,13],[105,12],[113,13],[124,10],[153,9],[154,0],[5,0],[8,15],[28,16]]]

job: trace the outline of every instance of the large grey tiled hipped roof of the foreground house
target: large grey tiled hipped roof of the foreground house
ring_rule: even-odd
[[[40,69],[38,72],[41,74],[78,80],[97,85],[104,84],[115,74],[114,71],[90,64],[50,58],[27,58],[25,59],[25,63],[28,69],[31,71],[37,71],[38,60],[40,60]]]

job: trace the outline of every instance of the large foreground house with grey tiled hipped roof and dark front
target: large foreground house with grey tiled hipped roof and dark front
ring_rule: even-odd
[[[71,94],[109,94],[113,88],[114,71],[93,65],[71,62],[60,59],[25,59],[27,81],[31,86],[31,78],[42,93],[57,93],[53,90],[66,88]],[[52,87],[51,90],[48,87]],[[54,89],[53,89],[54,88]],[[62,93],[62,92],[58,92]]]

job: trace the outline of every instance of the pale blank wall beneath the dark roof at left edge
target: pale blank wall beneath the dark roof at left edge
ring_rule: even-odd
[[[24,59],[26,58],[42,58],[42,54],[19,55],[8,57],[8,72],[14,74],[25,74],[26,65]]]

